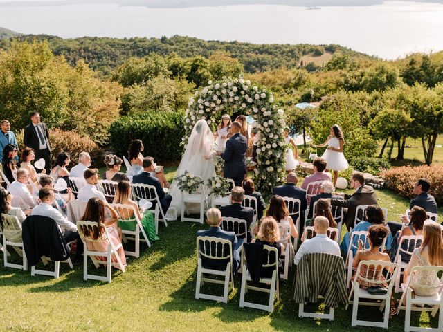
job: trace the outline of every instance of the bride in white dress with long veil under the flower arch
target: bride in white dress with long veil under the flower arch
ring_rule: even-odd
[[[185,153],[175,176],[184,174],[185,171],[200,176],[204,183],[208,178],[215,176],[213,161],[214,136],[206,120],[198,120],[186,145]],[[172,181],[169,194],[172,196],[171,206],[180,214],[181,190],[177,187],[177,180]]]

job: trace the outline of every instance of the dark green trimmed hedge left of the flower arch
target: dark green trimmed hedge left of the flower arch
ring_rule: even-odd
[[[109,127],[112,151],[127,156],[129,142],[143,141],[143,156],[152,156],[158,162],[180,160],[183,153],[183,112],[147,111],[134,116],[122,116]]]

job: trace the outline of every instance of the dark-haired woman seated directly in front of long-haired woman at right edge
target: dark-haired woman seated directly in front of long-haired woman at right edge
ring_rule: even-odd
[[[397,259],[395,255],[397,255],[397,249],[401,242],[401,237],[408,235],[423,235],[424,221],[428,219],[428,216],[426,216],[426,211],[423,208],[415,205],[409,211],[409,218],[409,225],[403,228],[403,230],[399,230],[397,234],[395,234],[394,239],[392,239],[390,252],[390,260],[392,262],[395,262],[395,259]],[[417,246],[419,246],[419,243],[422,243],[421,240],[418,240],[417,242]],[[416,246],[415,241],[411,241],[411,243],[409,243],[409,241],[404,241],[403,243],[401,243],[401,249],[403,250],[408,250],[410,246]],[[412,249],[410,251],[412,251]],[[404,261],[406,263],[410,261],[410,255],[408,253],[400,251],[399,254],[401,256],[401,261]]]

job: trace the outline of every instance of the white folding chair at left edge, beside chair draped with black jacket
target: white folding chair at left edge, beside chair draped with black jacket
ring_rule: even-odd
[[[21,223],[16,216],[10,216],[9,214],[1,214],[1,223],[3,228],[0,227],[0,233],[3,237],[3,266],[6,268],[19,268],[20,270],[27,270],[28,264],[26,255],[23,251],[23,242],[21,241]],[[13,264],[8,262],[8,246],[12,246],[14,250],[19,254],[22,259],[22,264]]]

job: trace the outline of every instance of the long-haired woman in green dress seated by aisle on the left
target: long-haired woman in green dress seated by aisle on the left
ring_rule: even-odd
[[[117,185],[116,196],[114,196],[114,201],[112,203],[131,205],[132,208],[134,208],[134,212],[136,213],[138,219],[141,221],[143,230],[145,230],[148,239],[150,241],[159,240],[160,238],[157,236],[157,234],[155,234],[154,214],[152,214],[150,210],[145,210],[145,213],[141,214],[140,210],[138,209],[137,202],[132,201],[130,197],[131,184],[129,181],[123,180]],[[134,213],[130,213],[129,216],[125,217],[132,218],[133,216]],[[134,231],[136,230],[136,222],[120,221],[120,219],[118,219],[118,227],[120,227],[122,230]]]

